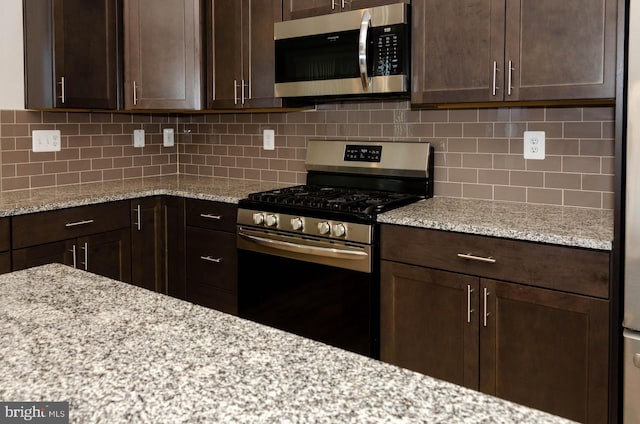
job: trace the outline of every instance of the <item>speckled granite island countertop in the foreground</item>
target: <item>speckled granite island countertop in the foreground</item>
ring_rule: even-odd
[[[567,422],[64,265],[0,276],[0,304],[0,400],[73,423]]]

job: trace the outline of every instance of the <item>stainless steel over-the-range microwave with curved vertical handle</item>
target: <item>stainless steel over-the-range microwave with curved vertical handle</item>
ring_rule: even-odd
[[[405,3],[277,22],[276,97],[407,93]]]

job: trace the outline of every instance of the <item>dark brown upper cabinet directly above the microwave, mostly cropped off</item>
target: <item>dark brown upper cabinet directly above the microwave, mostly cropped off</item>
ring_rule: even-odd
[[[284,0],[283,19],[288,21],[393,3],[409,3],[409,0]]]

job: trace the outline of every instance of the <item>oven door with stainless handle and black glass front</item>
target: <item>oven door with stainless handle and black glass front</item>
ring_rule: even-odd
[[[323,246],[239,226],[238,249],[240,317],[379,357],[379,283],[370,246]],[[337,265],[349,262],[369,269]]]

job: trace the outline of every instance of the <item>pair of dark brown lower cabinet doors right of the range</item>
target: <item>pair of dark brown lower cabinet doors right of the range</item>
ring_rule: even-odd
[[[608,414],[608,301],[382,261],[381,359],[580,422]]]

